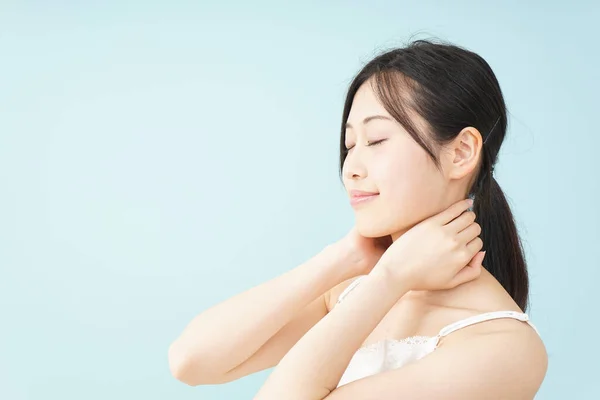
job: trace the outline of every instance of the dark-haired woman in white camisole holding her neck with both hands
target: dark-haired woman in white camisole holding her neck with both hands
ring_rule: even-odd
[[[276,366],[261,400],[532,399],[547,354],[493,175],[506,114],[489,65],[458,46],[419,40],[369,62],[340,140],[355,228],[194,318],[169,349],[174,376]]]

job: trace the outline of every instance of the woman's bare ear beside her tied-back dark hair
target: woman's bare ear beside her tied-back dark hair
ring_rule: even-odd
[[[452,142],[445,154],[445,170],[451,179],[461,179],[475,171],[481,158],[483,140],[481,133],[472,126],[464,128]]]

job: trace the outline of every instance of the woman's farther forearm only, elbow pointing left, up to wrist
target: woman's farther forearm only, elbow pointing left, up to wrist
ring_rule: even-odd
[[[344,257],[339,248],[328,246],[298,267],[199,314],[171,345],[170,364],[184,381],[237,367],[303,307],[351,277]]]

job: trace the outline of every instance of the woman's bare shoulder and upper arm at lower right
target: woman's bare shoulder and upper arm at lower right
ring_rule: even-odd
[[[411,399],[533,399],[547,370],[543,343],[528,324],[499,321],[485,323],[494,329],[473,325],[456,331],[418,361],[340,386],[331,400],[400,394]]]

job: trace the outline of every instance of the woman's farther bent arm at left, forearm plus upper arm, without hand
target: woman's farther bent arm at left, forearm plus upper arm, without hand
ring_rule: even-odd
[[[214,384],[275,366],[327,314],[328,290],[351,278],[347,254],[327,246],[196,316],[169,348],[172,374],[189,385]]]

